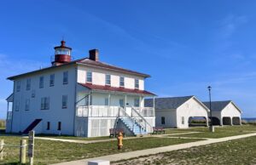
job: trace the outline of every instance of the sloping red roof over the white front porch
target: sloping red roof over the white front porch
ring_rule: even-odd
[[[124,93],[131,93],[131,94],[155,95],[146,90],[94,85],[91,83],[79,83],[79,84],[82,85],[83,87],[89,88],[91,90],[103,90],[103,91],[124,92]]]

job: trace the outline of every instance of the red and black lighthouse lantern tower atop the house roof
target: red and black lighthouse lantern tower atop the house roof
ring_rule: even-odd
[[[71,61],[72,48],[67,47],[65,41],[61,41],[61,46],[55,47],[55,58],[52,60],[52,65],[61,65]]]

